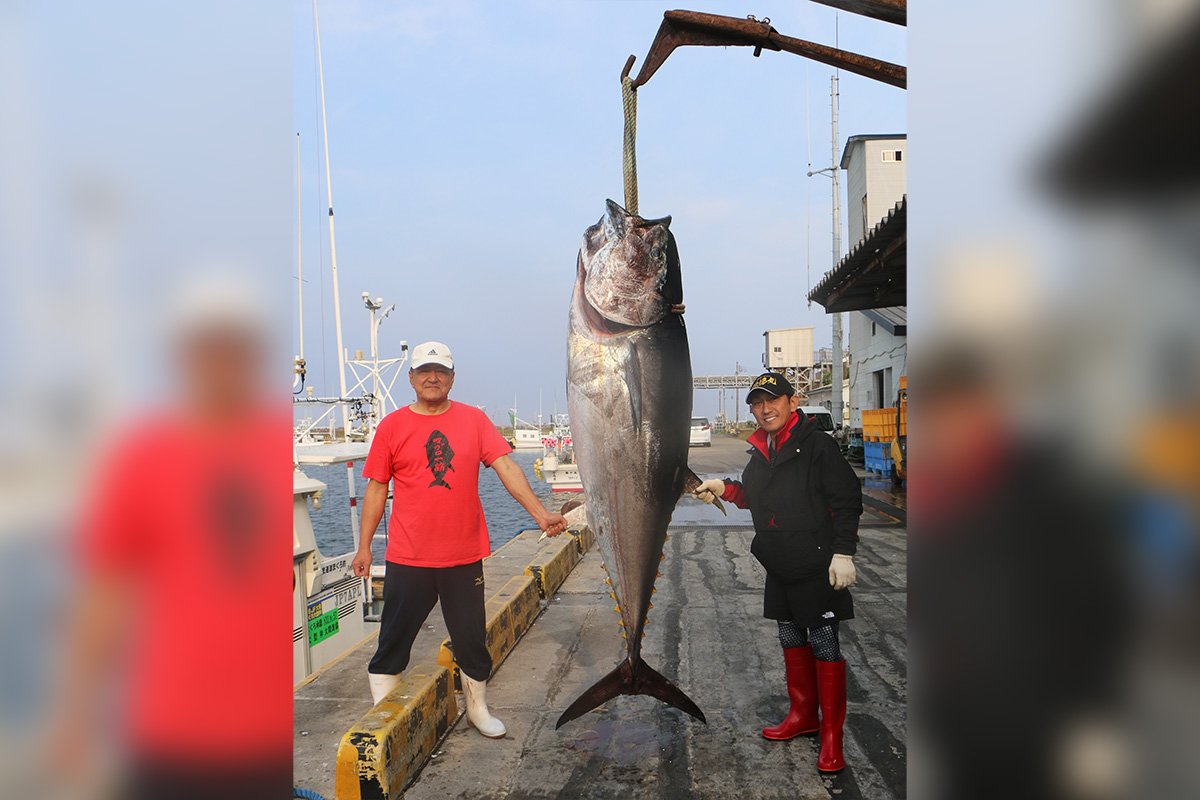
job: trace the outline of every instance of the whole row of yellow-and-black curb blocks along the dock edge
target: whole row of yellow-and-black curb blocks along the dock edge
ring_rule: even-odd
[[[594,543],[595,536],[587,528],[550,540],[523,575],[509,579],[486,602],[493,673],[541,614],[541,601],[558,591]],[[446,639],[437,666],[409,667],[396,688],[342,736],[336,800],[398,798],[457,718],[454,693],[461,688],[458,666]]]

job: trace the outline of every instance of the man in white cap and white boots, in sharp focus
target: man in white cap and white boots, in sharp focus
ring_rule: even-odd
[[[371,569],[371,540],[392,483],[379,646],[367,666],[371,697],[378,703],[400,682],[413,640],[440,600],[462,673],[467,721],[497,739],[506,730],[488,712],[484,694],[492,674],[484,615],[484,558],[491,548],[479,500],[479,464],[496,470],[541,530],[557,536],[566,530],[566,519],[541,505],[487,416],[450,399],[450,348],[440,342],[416,345],[408,380],[416,402],[379,422],[362,469],[368,482],[354,575]]]

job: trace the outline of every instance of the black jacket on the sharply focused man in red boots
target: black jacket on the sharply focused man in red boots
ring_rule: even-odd
[[[803,581],[827,572],[834,553],[853,555],[863,489],[838,443],[798,414],[778,434],[774,462],[761,428],[749,441],[750,463],[742,481],[726,481],[726,497],[750,509],[750,552],[767,572]]]

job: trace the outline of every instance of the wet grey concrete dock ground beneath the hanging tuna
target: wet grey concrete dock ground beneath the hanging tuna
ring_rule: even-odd
[[[720,435],[691,456],[701,475],[736,475],[744,463],[745,444]],[[700,705],[708,724],[653,698],[622,697],[556,730],[563,709],[624,656],[592,548],[490,681],[490,704],[508,736],[485,739],[460,717],[406,796],[905,796],[905,528],[884,512],[890,506],[880,507],[869,505],[863,517],[857,618],[842,627],[842,772],[816,771],[815,736],[761,736],[782,718],[787,699],[775,624],[762,618],[764,572],[750,555],[754,531],[740,515],[725,518],[685,500],[666,545],[643,657]],[[522,536],[490,559],[488,588],[503,585],[530,547],[534,536]],[[414,663],[436,660],[440,628],[434,610]],[[370,711],[364,673],[373,649],[373,639],[365,642],[296,691],[296,786],[334,796],[338,740]]]

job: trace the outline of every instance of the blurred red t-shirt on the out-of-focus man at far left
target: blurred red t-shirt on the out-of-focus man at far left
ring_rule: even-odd
[[[252,765],[292,747],[292,422],[162,419],[88,487],[84,577],[124,584],[122,729],[172,763]]]

